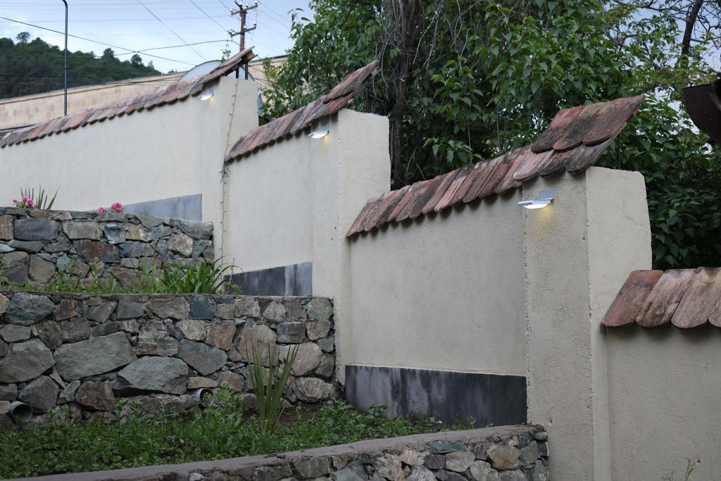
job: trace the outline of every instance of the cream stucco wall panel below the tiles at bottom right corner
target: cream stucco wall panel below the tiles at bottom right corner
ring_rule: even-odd
[[[721,330],[672,325],[606,330],[613,480],[662,480],[686,459],[691,480],[721,473]]]

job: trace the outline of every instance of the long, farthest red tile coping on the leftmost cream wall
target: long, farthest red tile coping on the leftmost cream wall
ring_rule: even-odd
[[[144,94],[138,94],[135,97],[130,97],[120,102],[115,102],[114,104],[83,110],[64,117],[45,120],[45,122],[9,131],[0,138],[0,147],[34,141],[38,138],[68,132],[74,128],[101,122],[102,120],[110,120],[121,115],[139,112],[143,109],[150,109],[151,107],[159,107],[161,105],[185,100],[187,97],[199,94],[207,84],[238,69],[239,66],[247,63],[253,57],[255,57],[255,54],[252,52],[252,48],[247,48],[242,52],[236,53],[236,55],[198,79],[178,82],[177,84],[160,87]]]

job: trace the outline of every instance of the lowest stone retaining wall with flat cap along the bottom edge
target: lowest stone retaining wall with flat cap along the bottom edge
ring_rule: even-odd
[[[548,481],[539,426],[373,439],[270,456],[32,478],[37,481]]]

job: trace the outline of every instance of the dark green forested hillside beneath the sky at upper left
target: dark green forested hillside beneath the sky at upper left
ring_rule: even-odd
[[[68,87],[158,75],[153,63],[137,54],[121,61],[107,48],[102,56],[68,52]],[[13,41],[0,38],[0,99],[63,88],[63,49],[21,32]]]

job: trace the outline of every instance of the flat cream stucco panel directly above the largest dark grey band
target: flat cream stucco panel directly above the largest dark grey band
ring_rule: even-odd
[[[518,200],[515,191],[350,241],[343,362],[525,375]]]

